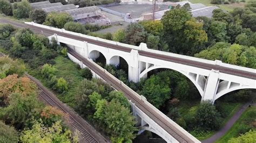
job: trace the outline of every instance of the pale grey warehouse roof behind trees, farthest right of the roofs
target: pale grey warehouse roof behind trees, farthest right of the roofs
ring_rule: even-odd
[[[205,17],[212,17],[212,11],[215,9],[219,9],[217,6],[208,6],[206,8],[201,8],[197,10],[192,10],[191,13],[193,17],[205,16]]]

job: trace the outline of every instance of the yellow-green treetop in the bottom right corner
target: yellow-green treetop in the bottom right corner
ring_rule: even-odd
[[[256,142],[255,136],[256,130],[250,130],[245,134],[239,135],[238,138],[231,138],[230,140],[228,140],[228,143]]]

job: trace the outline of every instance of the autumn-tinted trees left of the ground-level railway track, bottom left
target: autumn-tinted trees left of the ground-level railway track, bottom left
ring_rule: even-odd
[[[23,76],[25,65],[0,57],[0,141],[78,142],[64,123],[65,113],[38,101],[38,89]]]

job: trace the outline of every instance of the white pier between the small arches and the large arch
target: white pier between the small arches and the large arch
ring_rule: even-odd
[[[131,50],[131,60],[128,63],[129,81],[139,82],[139,53],[137,50]]]

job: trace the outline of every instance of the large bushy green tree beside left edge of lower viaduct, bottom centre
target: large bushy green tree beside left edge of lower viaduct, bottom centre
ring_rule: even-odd
[[[110,133],[112,141],[131,141],[136,137],[133,132],[137,131],[134,117],[129,109],[125,108],[116,100],[107,103],[99,100],[96,104],[95,116],[105,126],[105,131]]]

